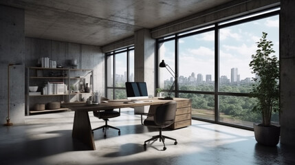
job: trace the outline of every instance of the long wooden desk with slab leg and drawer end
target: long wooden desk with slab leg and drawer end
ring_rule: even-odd
[[[150,101],[151,100],[151,101]],[[124,103],[127,100],[109,100],[109,102],[101,102],[98,105],[88,105],[84,103],[69,103],[66,107],[75,111],[72,137],[89,146],[92,150],[96,149],[94,144],[94,135],[91,131],[91,124],[88,112],[99,111],[107,109],[119,109],[127,107],[142,107],[142,106],[157,106],[164,104],[171,100],[159,100],[157,98],[144,99],[143,102]],[[178,129],[191,124],[191,100],[186,98],[174,98],[177,102],[177,111],[175,116],[175,123],[170,127],[171,129]]]

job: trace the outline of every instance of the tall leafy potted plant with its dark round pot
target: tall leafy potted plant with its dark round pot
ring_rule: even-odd
[[[280,71],[278,58],[270,56],[274,53],[273,44],[272,41],[267,41],[266,36],[267,33],[263,32],[260,41],[257,42],[256,54],[252,54],[252,61],[249,64],[252,74],[257,75],[253,78],[255,83],[250,95],[258,100],[253,110],[262,115],[262,123],[253,124],[255,139],[259,144],[275,146],[279,141],[280,126],[272,124],[271,118],[272,113],[280,109],[278,86]]]

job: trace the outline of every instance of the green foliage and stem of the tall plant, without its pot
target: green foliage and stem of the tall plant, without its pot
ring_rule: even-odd
[[[267,41],[267,33],[257,42],[258,49],[256,54],[252,54],[252,61],[249,66],[252,74],[257,77],[253,78],[254,85],[250,95],[258,99],[253,107],[254,111],[260,111],[262,115],[262,124],[270,126],[272,113],[279,111],[279,87],[278,80],[280,76],[279,61],[276,56],[270,56],[274,53],[272,41]]]

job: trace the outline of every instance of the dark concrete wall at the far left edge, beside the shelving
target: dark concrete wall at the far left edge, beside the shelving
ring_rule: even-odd
[[[8,64],[10,67],[10,122],[23,124],[25,114],[25,12],[0,5],[0,123],[8,116]]]

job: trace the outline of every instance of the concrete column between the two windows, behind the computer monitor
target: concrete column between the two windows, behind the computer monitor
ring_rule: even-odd
[[[146,82],[149,95],[155,94],[155,39],[151,38],[148,29],[135,32],[134,37],[134,80]],[[147,109],[148,107],[146,107]],[[135,113],[143,112],[143,108],[135,109]]]

